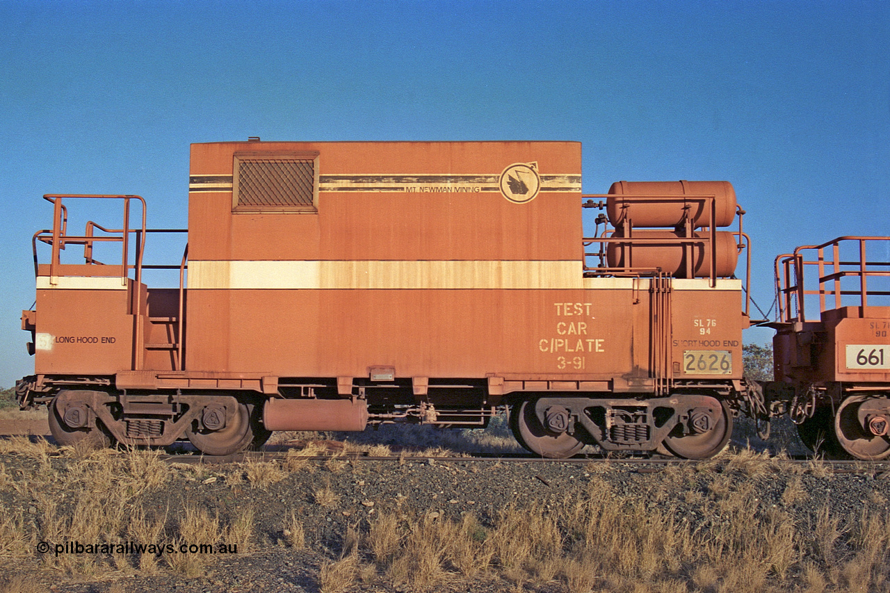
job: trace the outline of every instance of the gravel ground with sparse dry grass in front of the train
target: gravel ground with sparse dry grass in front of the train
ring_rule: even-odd
[[[789,565],[769,569],[758,590],[796,590],[803,585],[813,589],[818,579],[824,581],[821,590],[849,590],[853,577],[845,574],[852,569],[843,567],[859,562],[863,544],[857,540],[862,533],[857,525],[863,512],[885,522],[890,516],[890,473],[885,468],[863,464],[858,471],[837,473],[818,460],[770,459],[755,449],[740,449],[747,443],[738,437],[734,450],[717,459],[674,464],[609,459],[443,461],[432,454],[413,457],[408,452],[389,461],[343,456],[317,461],[292,455],[247,464],[186,464],[140,451],[57,450],[47,443],[23,442],[5,441],[0,461],[4,521],[0,582],[7,583],[5,590],[575,591],[659,590],[666,587],[664,583],[688,591],[744,589],[731,586],[730,577],[719,569],[710,575],[692,556],[689,562],[681,557],[679,564],[658,569],[648,584],[639,575],[633,577],[634,587],[643,589],[629,589],[627,579],[602,574],[578,581],[555,557],[556,568],[547,570],[546,558],[530,558],[529,563],[511,567],[497,554],[472,575],[442,560],[438,577],[415,581],[400,577],[392,563],[376,558],[368,540],[371,526],[383,516],[395,517],[402,525],[403,547],[409,545],[405,530],[412,525],[417,529],[422,524],[457,525],[473,516],[479,524],[478,537],[473,537],[483,550],[494,545],[498,525],[512,512],[526,514],[530,524],[536,517],[546,518],[560,531],[562,552],[556,556],[580,557],[579,546],[590,536],[576,532],[571,523],[577,522],[577,514],[572,513],[591,501],[600,504],[598,508],[627,514],[628,522],[639,521],[639,515],[660,517],[659,524],[670,522],[677,532],[707,542],[724,542],[740,523],[790,525],[797,542]],[[101,479],[109,485],[99,488],[101,484],[89,483],[88,471],[101,471]],[[145,486],[149,482],[152,485]],[[108,498],[102,500],[103,496]],[[91,508],[86,499],[101,504],[109,516],[115,508],[123,511],[119,524],[109,523],[109,532],[90,536],[106,544],[132,540],[134,532],[127,524],[141,516],[162,519],[159,544],[210,543],[182,541],[187,508],[204,509],[207,521],[226,529],[247,514],[251,529],[237,553],[202,556],[197,569],[169,565],[164,554],[147,570],[139,554],[69,555],[89,560],[84,568],[62,563],[53,548],[38,552],[36,545],[50,537],[48,524],[86,512]],[[826,524],[821,515],[837,527],[837,536],[829,538],[830,549],[824,549],[825,537],[816,541],[816,532]],[[620,524],[625,517],[615,520]],[[61,536],[64,530],[57,529],[55,537],[87,543],[74,520],[69,521],[69,532]],[[303,530],[299,542],[295,524]],[[14,536],[17,531],[19,539]],[[343,558],[350,554],[355,563],[349,577],[336,581],[331,567],[344,565]],[[813,576],[813,571],[822,576]],[[874,579],[870,589],[862,590],[890,590],[886,574],[871,573],[877,575],[870,577]]]

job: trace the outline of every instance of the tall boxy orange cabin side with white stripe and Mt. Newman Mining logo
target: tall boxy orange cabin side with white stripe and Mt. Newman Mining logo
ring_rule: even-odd
[[[317,152],[316,215],[232,210],[237,155],[263,151]],[[582,288],[579,197],[577,142],[193,144],[186,368],[483,376],[516,339],[540,358],[512,320]],[[536,356],[511,365],[560,371]]]

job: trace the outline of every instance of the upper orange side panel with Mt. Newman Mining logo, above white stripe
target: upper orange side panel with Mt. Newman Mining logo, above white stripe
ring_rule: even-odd
[[[263,150],[319,153],[318,215],[232,213],[234,155]],[[190,257],[579,259],[580,171],[577,142],[193,144]],[[514,194],[505,173],[537,183]]]

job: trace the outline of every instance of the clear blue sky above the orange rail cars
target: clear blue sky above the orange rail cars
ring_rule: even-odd
[[[0,386],[32,370],[41,196],[139,194],[183,227],[190,142],[573,140],[587,193],[725,179],[764,308],[776,254],[887,232],[890,3],[0,0],[0,23]]]

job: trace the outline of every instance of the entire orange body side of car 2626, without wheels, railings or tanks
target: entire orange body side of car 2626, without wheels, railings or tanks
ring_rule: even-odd
[[[283,154],[317,154],[312,183],[298,168],[281,189],[268,167],[280,173]],[[264,393],[281,377],[634,393],[741,376],[737,280],[584,278],[578,143],[196,144],[190,173],[185,373],[169,374],[178,292],[114,289],[120,280],[100,275],[41,287],[41,328],[114,326],[117,346],[92,366],[84,348],[38,352],[38,372]],[[310,202],[309,215],[262,210]],[[62,292],[74,300],[53,313]],[[145,378],[126,372],[142,365]]]

